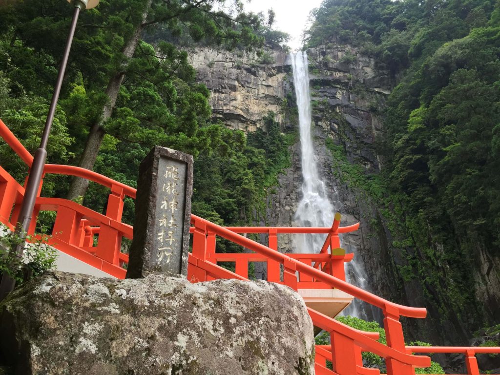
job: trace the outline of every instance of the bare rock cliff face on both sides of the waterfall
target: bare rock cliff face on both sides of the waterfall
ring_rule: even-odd
[[[321,174],[330,199],[343,215],[342,224],[361,222],[360,230],[345,236],[344,247],[356,252],[355,261],[366,264],[368,284],[376,285],[370,287],[372,291],[401,300],[400,295],[394,295],[399,286],[392,277],[397,270],[388,249],[390,233],[377,207],[363,191],[346,180],[326,146],[326,140],[330,139],[342,147],[351,163],[369,171],[378,170],[380,161],[373,142],[381,129],[381,121],[376,109],[383,105],[393,81],[388,72],[375,67],[373,59],[349,46],[315,48],[307,53],[314,139]],[[208,48],[190,51],[198,80],[212,91],[210,103],[216,118],[236,129],[251,131],[268,110],[273,110],[280,114],[278,119],[283,129],[297,126],[289,59],[281,51],[272,52],[272,56],[272,63],[255,64],[258,57],[242,52]],[[302,184],[299,142],[290,147],[290,153],[291,167],[278,176],[279,186],[268,194],[265,217],[255,220],[258,225],[294,225],[293,215]],[[261,239],[265,241],[264,237]],[[291,241],[289,235],[280,235],[279,250],[289,251]],[[265,269],[258,264],[255,274],[266,276]],[[413,303],[421,305],[418,301]],[[379,318],[378,312],[367,311],[367,315]]]

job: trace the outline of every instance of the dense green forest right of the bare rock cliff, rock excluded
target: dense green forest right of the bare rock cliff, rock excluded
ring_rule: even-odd
[[[352,45],[396,84],[381,175],[362,181],[408,260],[402,277],[464,338],[497,323],[497,290],[478,285],[500,273],[500,2],[325,0],[312,20],[305,47]]]

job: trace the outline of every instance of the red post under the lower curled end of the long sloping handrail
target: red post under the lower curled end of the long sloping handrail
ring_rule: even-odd
[[[387,346],[390,346],[402,353],[406,352],[404,335],[401,322],[399,321],[399,311],[397,308],[385,305],[383,308],[383,327]],[[401,363],[392,358],[386,358],[387,375],[414,375],[415,370],[409,364]]]

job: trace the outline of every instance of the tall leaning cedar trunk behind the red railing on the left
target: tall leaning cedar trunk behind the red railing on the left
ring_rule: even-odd
[[[123,55],[130,59],[132,58],[135,48],[140,39],[140,35],[142,33],[143,23],[146,20],[149,8],[151,6],[152,0],[147,0],[146,7],[144,8],[144,13],[142,14],[142,22],[135,29],[134,34],[128,40],[127,44],[123,48]],[[103,124],[109,117],[114,109],[114,105],[116,103],[116,99],[118,98],[118,92],[120,89],[121,82],[125,76],[126,64],[123,66],[122,71],[114,74],[107,83],[106,87],[106,95],[109,97],[109,101],[106,105],[104,105],[104,109],[102,111],[102,117],[92,124],[90,127],[90,132],[88,133],[87,141],[85,143],[85,148],[83,149],[83,153],[81,154],[80,163],[78,166],[86,169],[93,169],[93,165],[95,163],[95,159],[97,158],[97,154],[99,153],[100,144],[102,143],[102,139],[104,138],[104,134],[106,133]],[[88,187],[88,180],[81,177],[73,177],[71,181],[71,186],[69,187],[69,192],[67,193],[68,199],[76,199],[79,196],[85,195],[85,192]]]

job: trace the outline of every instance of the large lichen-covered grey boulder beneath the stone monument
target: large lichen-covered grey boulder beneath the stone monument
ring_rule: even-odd
[[[54,272],[0,313],[0,366],[23,375],[314,373],[303,301],[265,281]]]

